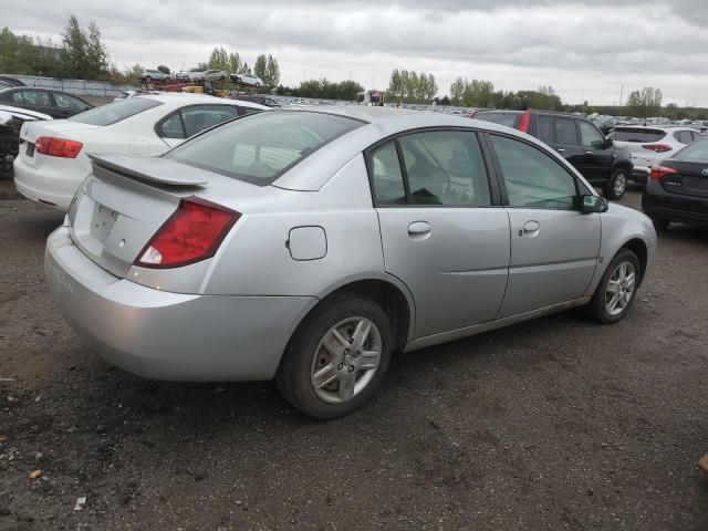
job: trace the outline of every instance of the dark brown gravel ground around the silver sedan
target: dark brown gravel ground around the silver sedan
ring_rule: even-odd
[[[621,324],[569,312],[398,356],[373,404],[319,423],[269,383],[149,382],[101,361],[44,284],[62,216],[11,187],[2,530],[708,529],[706,230],[662,235]]]

